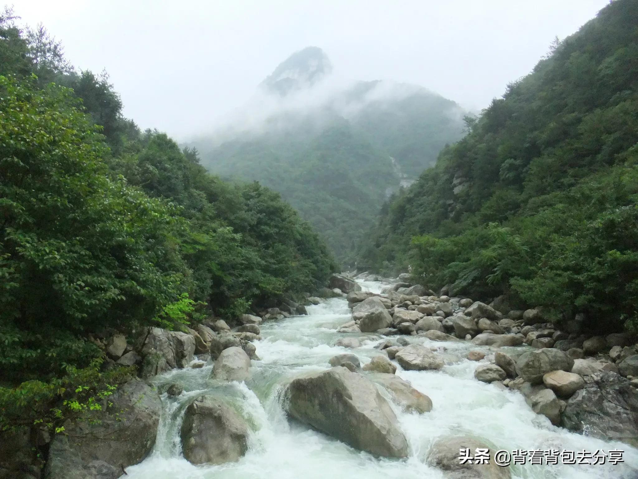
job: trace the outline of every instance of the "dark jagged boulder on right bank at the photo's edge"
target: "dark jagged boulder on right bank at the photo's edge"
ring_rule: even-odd
[[[638,446],[638,390],[614,372],[598,372],[567,400],[563,427],[605,441]]]

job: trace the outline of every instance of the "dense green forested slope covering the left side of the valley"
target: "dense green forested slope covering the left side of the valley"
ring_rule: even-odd
[[[102,331],[233,319],[334,268],[279,194],[221,181],[195,149],[140,131],[105,73],[0,13],[2,429],[60,423],[128,374],[101,367]]]

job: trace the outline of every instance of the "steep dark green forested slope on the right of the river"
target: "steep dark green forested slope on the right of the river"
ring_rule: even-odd
[[[619,0],[556,40],[383,206],[359,266],[638,326],[637,26]]]

